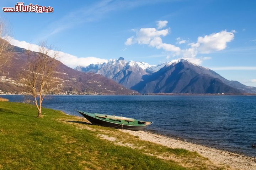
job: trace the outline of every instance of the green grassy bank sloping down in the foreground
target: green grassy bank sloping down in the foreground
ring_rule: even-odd
[[[196,152],[33,105],[0,102],[0,169],[222,169]]]

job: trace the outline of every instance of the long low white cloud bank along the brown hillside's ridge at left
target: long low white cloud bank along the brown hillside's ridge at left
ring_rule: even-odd
[[[24,49],[29,49],[31,51],[36,51],[38,52],[38,45],[36,44],[30,44],[26,41],[19,41],[16,40],[12,37],[8,37],[8,41],[11,45],[15,45]],[[49,56],[53,56],[55,51],[51,50],[49,53]],[[75,68],[76,66],[80,65],[80,66],[88,66],[89,64],[96,64],[96,63],[103,63],[103,62],[107,62],[108,60],[106,59],[101,59],[101,58],[96,58],[96,57],[77,57],[74,55],[71,55],[69,53],[64,53],[62,51],[58,51],[59,53],[59,60],[65,64],[66,66],[69,66],[71,68]]]

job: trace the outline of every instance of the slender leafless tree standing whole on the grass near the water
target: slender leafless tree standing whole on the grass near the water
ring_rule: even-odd
[[[27,50],[27,69],[25,72],[25,86],[33,96],[33,102],[36,104],[38,114],[42,117],[42,102],[45,95],[56,88],[58,84],[56,60],[58,52],[53,50],[52,46],[40,42],[38,52]],[[49,57],[50,56],[50,57]]]

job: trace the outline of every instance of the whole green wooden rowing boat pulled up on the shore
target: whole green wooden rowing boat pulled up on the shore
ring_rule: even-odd
[[[148,125],[152,124],[152,121],[142,121],[133,118],[120,117],[115,115],[98,114],[98,113],[87,113],[83,111],[77,111],[92,124],[101,126],[116,128],[116,129],[127,129],[127,130],[142,130]]]

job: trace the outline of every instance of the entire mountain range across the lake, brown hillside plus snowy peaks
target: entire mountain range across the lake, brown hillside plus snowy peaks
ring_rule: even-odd
[[[11,64],[0,68],[0,94],[24,91],[19,80],[27,64],[26,53],[26,49],[12,46]],[[37,52],[32,55],[36,57]],[[55,89],[60,94],[256,94],[256,87],[227,80],[213,70],[183,59],[150,65],[120,57],[75,69],[59,62],[56,74],[61,81]]]

